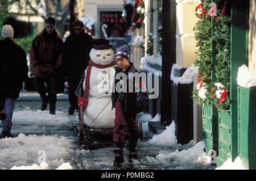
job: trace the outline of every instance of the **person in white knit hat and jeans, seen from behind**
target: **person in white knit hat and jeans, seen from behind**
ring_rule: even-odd
[[[11,137],[11,119],[15,99],[19,97],[22,82],[26,81],[28,67],[26,52],[14,43],[14,30],[5,25],[0,40],[0,96],[5,106],[6,119],[2,121],[2,137]]]

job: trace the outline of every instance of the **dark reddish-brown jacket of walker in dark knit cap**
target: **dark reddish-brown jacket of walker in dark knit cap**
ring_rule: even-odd
[[[55,31],[51,34],[46,30],[32,42],[30,62],[34,66],[35,77],[53,76],[56,68],[63,66],[61,61],[63,41]]]

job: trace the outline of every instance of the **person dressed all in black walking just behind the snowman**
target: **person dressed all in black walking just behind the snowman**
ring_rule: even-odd
[[[85,33],[84,24],[80,20],[73,23],[73,32],[64,43],[63,64],[68,78],[69,107],[68,114],[73,115],[77,110],[77,97],[75,91],[79,85],[82,74],[88,66],[90,50],[93,47],[93,39]]]

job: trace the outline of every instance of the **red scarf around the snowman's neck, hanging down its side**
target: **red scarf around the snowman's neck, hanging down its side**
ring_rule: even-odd
[[[92,70],[92,66],[95,66],[98,69],[105,69],[105,68],[110,68],[110,67],[112,67],[114,65],[115,65],[114,62],[112,62],[111,64],[107,64],[107,65],[101,65],[101,64],[94,63],[92,60],[89,61],[89,65],[88,65],[88,67],[86,69],[84,96],[80,96],[78,101],[77,101],[79,106],[82,106],[82,107],[86,108],[87,105],[88,105],[90,72]]]

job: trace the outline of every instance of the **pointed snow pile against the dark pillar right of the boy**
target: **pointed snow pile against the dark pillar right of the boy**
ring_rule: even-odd
[[[172,121],[172,124],[169,127],[166,127],[166,130],[159,134],[154,135],[151,140],[148,140],[150,145],[155,146],[174,146],[177,144],[177,139],[175,136],[175,123]]]

